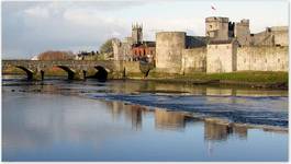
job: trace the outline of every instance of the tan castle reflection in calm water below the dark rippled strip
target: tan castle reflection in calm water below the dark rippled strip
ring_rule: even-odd
[[[247,131],[250,126],[243,124],[228,122],[219,118],[195,118],[191,117],[189,113],[171,112],[165,108],[149,108],[139,105],[126,105],[122,102],[107,102],[111,109],[112,119],[122,118],[125,116],[127,124],[137,130],[142,129],[143,115],[152,114],[155,120],[155,128],[157,130],[175,130],[183,131],[184,128],[193,122],[204,122],[204,140],[226,141],[230,136],[238,137],[239,139],[247,139]],[[287,132],[287,129],[278,130],[275,127],[265,127],[265,131]],[[280,128],[279,128],[280,129]]]

